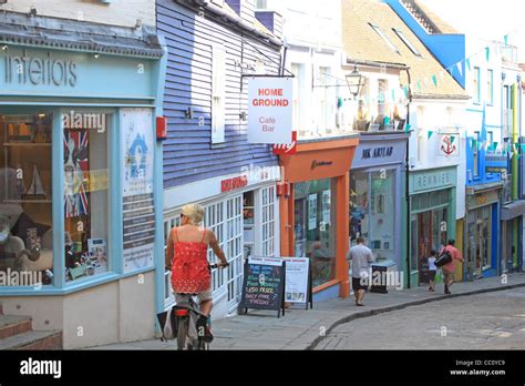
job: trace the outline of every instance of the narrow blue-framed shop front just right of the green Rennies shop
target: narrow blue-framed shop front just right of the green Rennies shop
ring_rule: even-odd
[[[493,183],[467,189],[464,257],[469,278],[497,275],[501,186]]]

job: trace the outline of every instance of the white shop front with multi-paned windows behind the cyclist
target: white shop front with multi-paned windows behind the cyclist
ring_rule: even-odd
[[[227,268],[212,272],[215,319],[236,314],[240,302],[244,263],[248,256],[279,255],[279,203],[277,181],[279,166],[246,167],[164,192],[164,240],[181,221],[181,210],[188,203],[205,207],[204,226],[214,231],[230,263]],[[176,203],[176,206],[173,205]],[[213,251],[208,261],[215,262]],[[171,307],[173,296],[169,272],[165,272],[163,306]]]

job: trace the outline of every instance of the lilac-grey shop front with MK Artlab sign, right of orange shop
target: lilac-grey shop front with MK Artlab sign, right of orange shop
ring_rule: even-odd
[[[401,270],[405,262],[405,133],[362,133],[350,171],[350,246],[364,237],[374,261]]]

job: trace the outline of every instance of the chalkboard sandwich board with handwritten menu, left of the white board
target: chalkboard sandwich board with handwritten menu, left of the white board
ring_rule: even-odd
[[[250,256],[245,263],[240,308],[276,309],[285,315],[286,263],[279,257]]]

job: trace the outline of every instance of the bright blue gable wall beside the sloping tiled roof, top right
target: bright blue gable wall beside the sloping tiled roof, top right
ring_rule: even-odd
[[[454,65],[452,77],[465,88],[465,35],[464,34],[429,34],[403,7],[400,0],[383,0],[388,3],[404,23],[414,32],[423,44],[434,54],[444,68],[462,61],[462,71]]]

